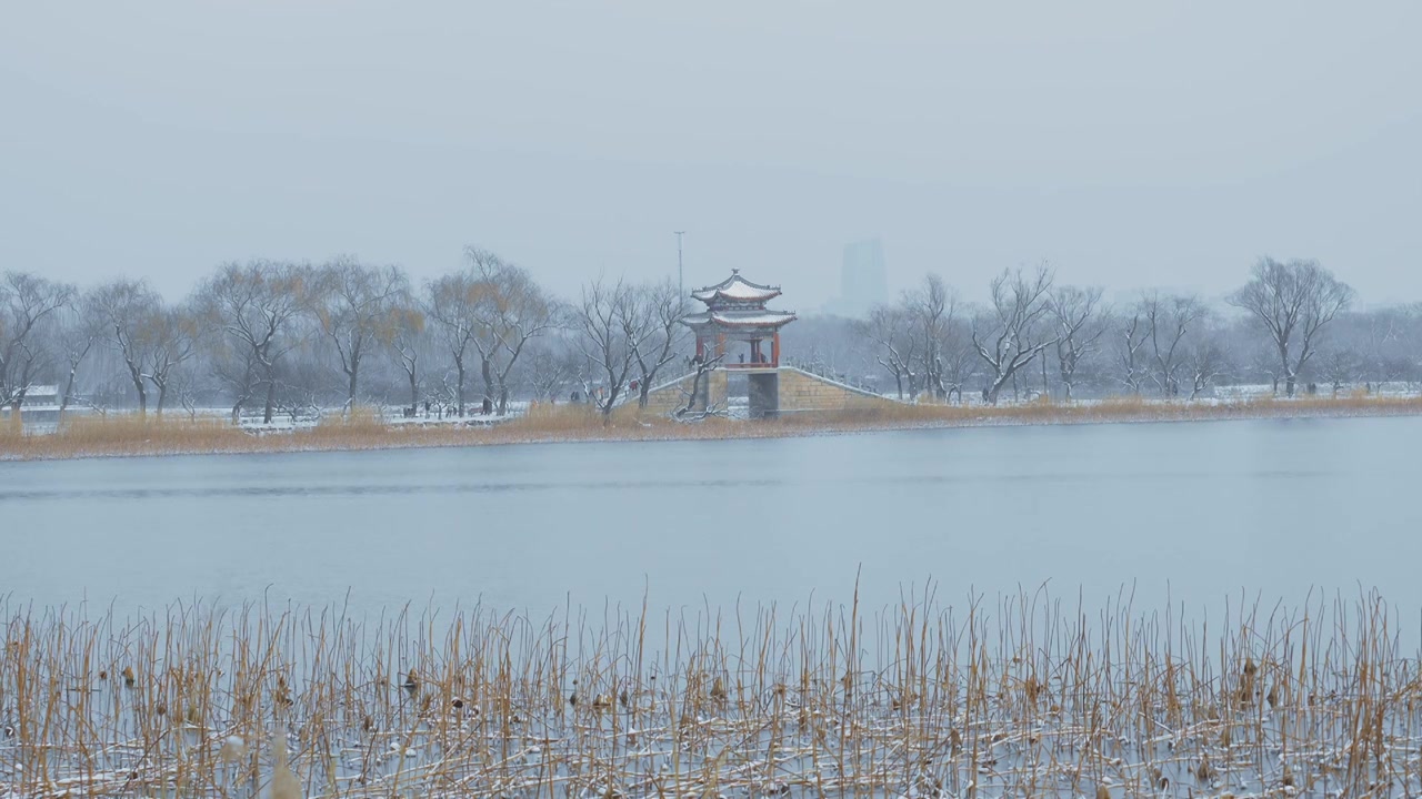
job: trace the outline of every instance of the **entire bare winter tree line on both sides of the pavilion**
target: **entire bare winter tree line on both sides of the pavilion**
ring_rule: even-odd
[[[0,405],[55,385],[61,415],[222,407],[270,422],[367,402],[505,414],[513,398],[574,395],[610,412],[684,371],[687,310],[665,280],[600,277],[565,300],[478,247],[419,286],[348,256],[225,263],[179,301],[144,280],[80,289],[6,272]],[[1243,382],[1338,392],[1422,384],[1422,306],[1355,310],[1354,291],[1311,260],[1263,259],[1216,304],[1163,291],[1108,304],[1048,267],[1005,270],[973,304],[929,274],[865,320],[798,321],[785,353],[903,400],[1183,400]]]

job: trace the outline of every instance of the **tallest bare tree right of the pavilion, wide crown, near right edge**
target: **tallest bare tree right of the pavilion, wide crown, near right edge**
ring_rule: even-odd
[[[1280,263],[1264,257],[1254,264],[1249,283],[1230,296],[1268,333],[1284,378],[1294,395],[1298,371],[1314,354],[1318,333],[1352,303],[1354,291],[1315,260]],[[1291,348],[1297,344],[1297,351]]]

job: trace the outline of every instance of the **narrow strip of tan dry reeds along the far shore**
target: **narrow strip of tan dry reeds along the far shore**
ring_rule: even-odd
[[[223,419],[131,414],[74,417],[53,434],[0,427],[0,461],[196,455],[212,452],[320,452],[434,446],[481,446],[566,441],[697,441],[781,438],[862,431],[990,425],[1183,422],[1260,418],[1401,417],[1422,414],[1422,397],[1305,397],[1230,402],[1159,402],[1139,397],[1101,402],[1012,405],[902,404],[784,414],[744,422],[720,417],[685,422],[619,408],[604,418],[587,405],[540,405],[495,425],[392,425],[374,411],[328,415],[313,428],[253,434]]]

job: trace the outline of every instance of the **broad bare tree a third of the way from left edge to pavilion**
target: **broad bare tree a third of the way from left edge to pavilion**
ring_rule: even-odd
[[[282,360],[301,340],[301,314],[309,306],[311,269],[272,260],[228,263],[198,290],[205,323],[226,338],[237,368],[228,370],[237,385],[233,417],[243,398],[264,390],[263,424],[270,424],[282,388]]]

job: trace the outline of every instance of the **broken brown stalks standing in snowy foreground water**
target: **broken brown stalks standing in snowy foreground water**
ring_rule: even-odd
[[[6,607],[0,796],[1415,796],[1376,596],[693,616]]]

